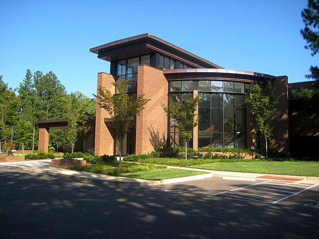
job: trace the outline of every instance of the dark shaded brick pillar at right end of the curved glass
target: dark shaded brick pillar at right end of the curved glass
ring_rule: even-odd
[[[279,98],[279,103],[275,106],[277,112],[271,119],[271,125],[274,129],[273,136],[269,139],[269,147],[289,156],[288,77],[276,77],[272,84],[275,88],[275,97]]]

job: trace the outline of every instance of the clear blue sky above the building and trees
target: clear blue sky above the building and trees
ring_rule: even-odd
[[[227,69],[308,81],[307,0],[0,0],[0,75],[54,72],[68,93],[96,93],[110,64],[89,49],[149,32]]]

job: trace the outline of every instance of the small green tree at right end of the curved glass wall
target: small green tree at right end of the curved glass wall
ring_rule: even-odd
[[[279,102],[278,98],[274,97],[274,88],[268,82],[265,89],[261,89],[259,85],[254,85],[245,99],[245,105],[251,110],[251,113],[256,117],[257,129],[265,138],[266,158],[268,158],[268,143],[267,140],[272,135],[273,127],[271,126],[271,117],[277,111],[275,105]]]

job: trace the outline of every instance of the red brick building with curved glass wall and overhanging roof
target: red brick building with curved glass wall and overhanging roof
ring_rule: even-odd
[[[131,80],[128,94],[144,94],[145,98],[151,99],[132,122],[131,131],[124,140],[124,154],[149,153],[161,147],[184,145],[173,119],[167,119],[161,104],[167,104],[168,97],[181,101],[197,95],[202,98],[197,108],[199,121],[188,145],[194,149],[206,146],[258,147],[259,136],[243,103],[252,84],[266,85],[268,81],[275,86],[275,94],[279,97],[278,111],[272,119],[274,135],[269,140],[270,148],[290,155],[291,142],[294,147],[299,140],[305,139],[319,144],[318,130],[310,129],[308,123],[308,126],[301,126],[304,131],[297,129],[300,119],[289,114],[290,89],[301,83],[288,84],[287,76],[224,69],[149,33],[113,41],[90,51],[111,63],[110,74],[98,73],[98,87],[103,86],[115,93],[112,82]],[[292,100],[296,99],[292,97]],[[314,118],[318,119],[318,115],[312,116],[311,120]],[[45,140],[47,130],[40,129]],[[99,106],[92,138],[95,140],[95,154],[118,154],[119,143],[114,138],[109,115]],[[40,141],[39,148],[43,144]],[[295,151],[295,155],[305,156]]]

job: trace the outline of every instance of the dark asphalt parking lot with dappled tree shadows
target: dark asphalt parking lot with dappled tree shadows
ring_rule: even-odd
[[[0,168],[0,238],[317,239],[319,186],[273,183],[208,178],[116,186]],[[227,198],[269,189],[283,195]],[[272,203],[278,197],[286,198]]]

